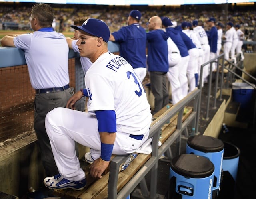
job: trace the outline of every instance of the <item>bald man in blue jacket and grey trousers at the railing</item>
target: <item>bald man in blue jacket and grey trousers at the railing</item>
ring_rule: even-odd
[[[158,16],[153,16],[148,20],[147,41],[148,41],[148,71],[150,73],[150,83],[154,95],[154,110],[152,114],[158,112],[166,106],[169,101],[167,89],[168,63],[168,33],[162,30],[162,20]]]

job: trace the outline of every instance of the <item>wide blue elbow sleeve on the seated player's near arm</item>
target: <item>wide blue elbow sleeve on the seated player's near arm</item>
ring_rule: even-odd
[[[114,110],[97,110],[95,114],[99,132],[116,132],[116,112]]]

